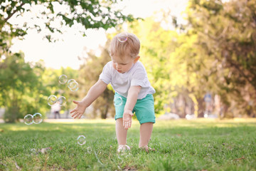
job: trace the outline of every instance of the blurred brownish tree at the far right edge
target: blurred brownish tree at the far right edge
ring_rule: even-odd
[[[191,71],[205,78],[204,90],[220,95],[222,117],[235,110],[245,113],[245,108],[253,113],[249,102],[256,98],[255,11],[256,1],[189,1],[186,33],[197,37],[192,47],[198,51],[186,61],[192,57]]]

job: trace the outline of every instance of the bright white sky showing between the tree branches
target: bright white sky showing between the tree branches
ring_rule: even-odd
[[[188,0],[125,0],[117,4],[117,9],[122,9],[124,14],[132,14],[134,17],[146,18],[149,16],[158,16],[161,11],[171,11],[171,14],[178,17],[179,22],[186,22],[182,17],[182,11],[186,9]],[[28,6],[30,8],[30,6]],[[65,9],[63,6],[56,6],[55,11]],[[23,24],[22,20],[27,20],[32,15],[38,15],[43,11],[43,6],[33,6],[31,12],[27,12],[22,17],[12,18],[11,23]],[[161,17],[161,16],[159,16]],[[157,19],[157,17],[156,17]],[[33,23],[35,21],[31,21]],[[38,21],[40,23],[40,19]],[[56,22],[57,23],[57,22]],[[80,25],[75,24],[72,28],[63,26],[65,31],[63,34],[56,35],[59,41],[49,43],[43,39],[44,33],[38,33],[36,30],[31,30],[24,40],[14,40],[12,51],[23,51],[26,61],[39,61],[43,59],[46,67],[59,69],[68,67],[78,69],[82,61],[79,61],[78,56],[85,57],[86,51],[93,50],[97,56],[100,55],[100,46],[104,46],[107,38],[106,33],[114,32],[114,28],[105,31],[104,29],[88,29],[86,36],[82,36]],[[127,29],[126,29],[127,30]]]

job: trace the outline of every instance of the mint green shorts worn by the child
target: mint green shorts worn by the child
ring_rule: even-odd
[[[122,98],[122,104],[119,103],[119,98]],[[114,103],[117,104],[114,106],[116,114],[114,119],[123,118],[124,114],[124,105],[127,101],[127,98],[124,98],[118,93],[114,93]],[[138,99],[137,103],[132,110],[132,113],[135,112],[139,123],[156,123],[156,116],[154,113],[154,97],[151,94],[146,95],[145,98]]]

